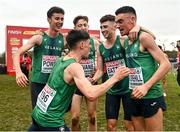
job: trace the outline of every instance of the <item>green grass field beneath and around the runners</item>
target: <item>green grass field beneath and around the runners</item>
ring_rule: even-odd
[[[180,88],[175,76],[167,76],[167,111],[164,113],[164,130],[180,131]],[[106,130],[104,114],[104,96],[99,98],[97,110],[98,131]],[[82,105],[81,128],[87,130],[86,107]],[[122,127],[122,111],[119,116],[118,131]],[[70,126],[70,115],[66,115],[66,123]],[[31,102],[28,87],[20,88],[14,76],[0,75],[0,131],[24,131],[31,124]]]

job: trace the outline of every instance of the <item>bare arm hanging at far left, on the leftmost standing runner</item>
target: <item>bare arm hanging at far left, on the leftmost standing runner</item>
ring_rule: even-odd
[[[40,45],[42,42],[42,36],[41,35],[34,35],[32,36],[28,43],[18,49],[16,53],[13,54],[13,63],[16,71],[16,83],[20,87],[25,87],[28,84],[28,79],[24,75],[24,73],[21,71],[20,68],[20,55],[24,54],[26,51],[34,47],[35,45]]]

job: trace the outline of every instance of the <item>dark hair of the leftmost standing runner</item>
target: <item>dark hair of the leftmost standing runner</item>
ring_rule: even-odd
[[[53,6],[47,12],[47,17],[51,18],[54,13],[65,14],[64,10],[61,7]]]

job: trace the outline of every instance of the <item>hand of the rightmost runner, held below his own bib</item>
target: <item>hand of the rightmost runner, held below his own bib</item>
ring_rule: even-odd
[[[143,84],[141,86],[137,86],[133,88],[132,97],[134,99],[141,99],[143,98],[148,92],[148,88]]]

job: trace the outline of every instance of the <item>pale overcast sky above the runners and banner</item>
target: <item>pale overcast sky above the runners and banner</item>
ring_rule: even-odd
[[[0,53],[5,51],[5,27],[48,27],[46,12],[52,6],[65,10],[64,28],[73,27],[77,15],[89,17],[90,29],[99,30],[99,19],[121,6],[133,6],[137,23],[150,29],[160,45],[172,50],[180,40],[180,0],[0,0]]]

